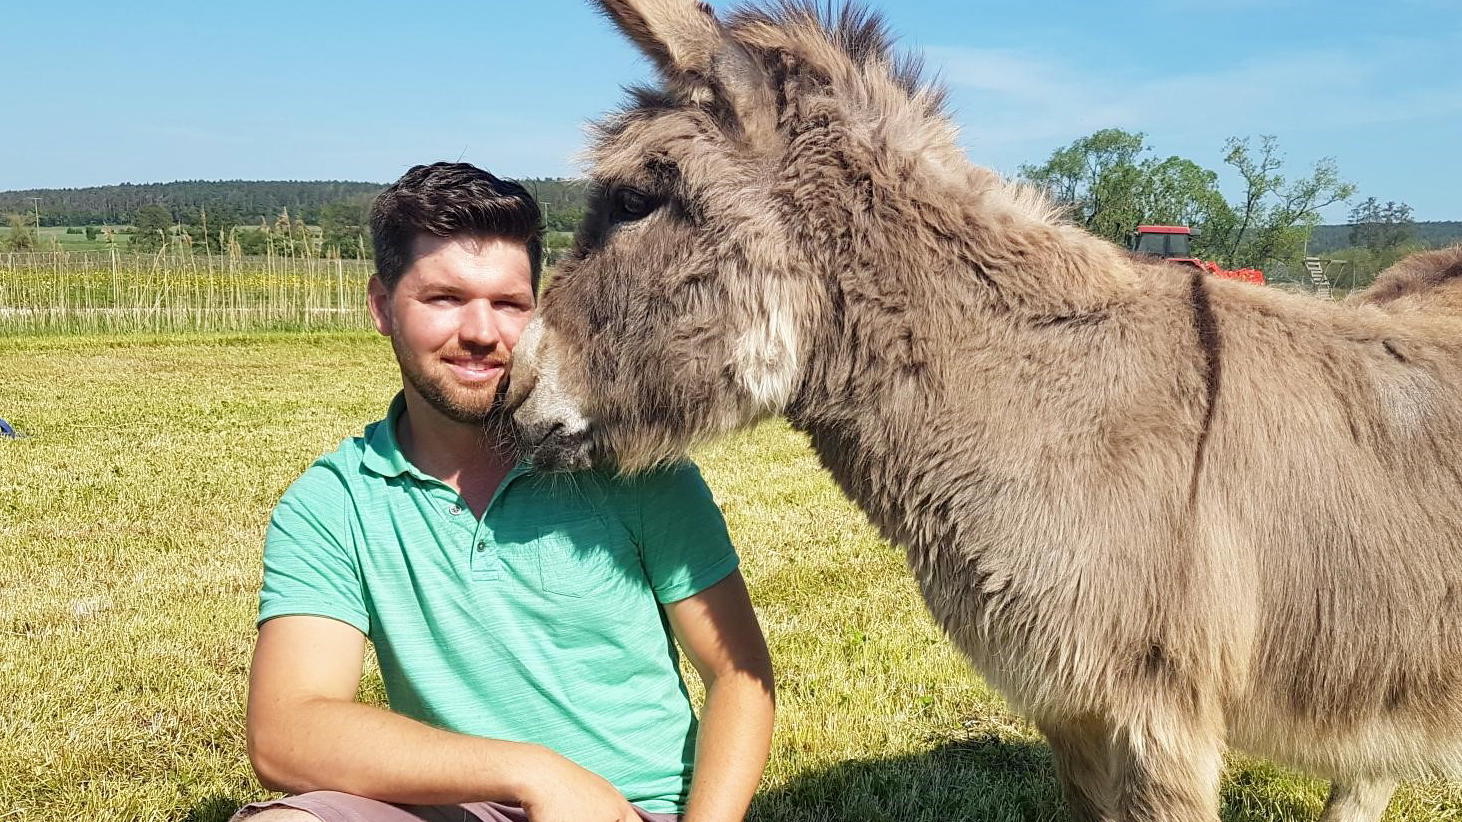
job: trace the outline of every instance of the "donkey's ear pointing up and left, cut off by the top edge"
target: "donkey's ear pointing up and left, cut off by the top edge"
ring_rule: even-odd
[[[725,47],[711,6],[699,0],[595,0],[674,83],[706,80]]]

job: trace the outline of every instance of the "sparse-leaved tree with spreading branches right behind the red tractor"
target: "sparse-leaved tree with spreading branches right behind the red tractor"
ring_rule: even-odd
[[[1355,186],[1341,180],[1329,157],[1319,159],[1308,177],[1287,181],[1279,173],[1284,155],[1273,136],[1259,137],[1257,151],[1249,137],[1230,137],[1224,152],[1224,162],[1244,181],[1244,196],[1234,208],[1234,227],[1225,237],[1213,238],[1228,266],[1262,268],[1298,257],[1310,231],[1320,222],[1320,209],[1355,193]]]

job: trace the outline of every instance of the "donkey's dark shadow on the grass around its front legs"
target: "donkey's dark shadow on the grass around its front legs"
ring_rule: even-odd
[[[1313,822],[1314,790],[1246,763],[1224,781],[1224,822]],[[996,734],[927,753],[857,759],[757,794],[749,822],[1067,822],[1051,749]]]

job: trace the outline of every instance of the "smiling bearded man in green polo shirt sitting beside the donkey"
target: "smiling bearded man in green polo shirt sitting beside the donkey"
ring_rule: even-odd
[[[741,819],[766,762],[766,645],[690,465],[537,475],[501,408],[541,216],[466,164],[371,212],[370,310],[402,392],[281,499],[249,752],[297,796],[251,822]],[[355,702],[366,641],[390,711]],[[706,685],[697,723],[675,645]]]

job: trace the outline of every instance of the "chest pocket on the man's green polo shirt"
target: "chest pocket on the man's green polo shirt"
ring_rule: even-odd
[[[645,576],[629,534],[598,515],[547,525],[535,548],[538,584],[548,594],[585,597],[632,585]]]

